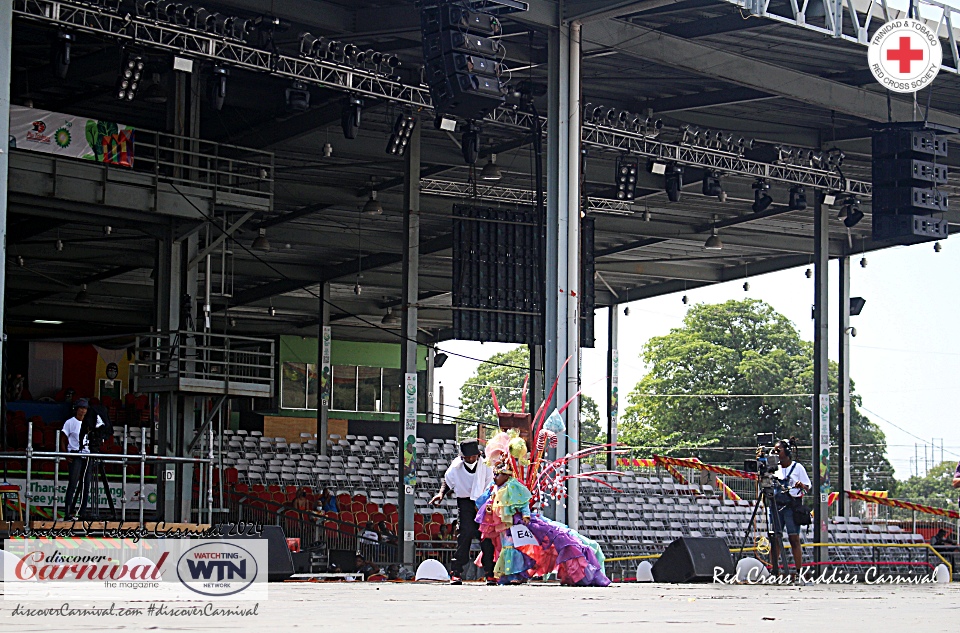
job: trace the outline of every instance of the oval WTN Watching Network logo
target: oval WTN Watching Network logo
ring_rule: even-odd
[[[257,560],[233,543],[204,543],[180,556],[177,577],[187,589],[200,595],[232,596],[256,580]]]

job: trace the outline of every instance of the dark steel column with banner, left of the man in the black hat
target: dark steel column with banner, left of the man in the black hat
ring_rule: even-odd
[[[409,445],[411,435],[416,442],[416,407],[414,406],[412,425],[409,411],[409,398],[417,400],[417,300],[420,292],[420,125],[415,125],[410,135],[410,144],[407,146],[407,156],[403,184],[403,313],[400,320],[400,331],[403,340],[400,342],[400,368],[404,374],[404,405],[400,415],[400,548],[401,562],[404,566],[413,567],[415,562],[414,542],[414,499],[416,492],[416,448],[405,448]],[[410,375],[413,376],[412,385]],[[410,393],[410,389],[413,393]],[[410,463],[407,464],[407,453],[410,454]],[[413,478],[406,478],[405,471],[413,471]]]

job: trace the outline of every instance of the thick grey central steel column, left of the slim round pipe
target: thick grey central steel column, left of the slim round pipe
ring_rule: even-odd
[[[567,399],[566,369],[560,371],[567,358],[567,205],[569,191],[570,144],[570,30],[561,25],[551,30],[548,40],[547,73],[547,247],[544,338],[544,389],[549,394],[553,381],[557,391],[547,407],[547,413]],[[565,455],[567,438],[560,437],[552,458]],[[546,514],[566,523],[566,504],[548,506]]]

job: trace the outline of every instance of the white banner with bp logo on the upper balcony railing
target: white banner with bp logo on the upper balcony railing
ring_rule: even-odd
[[[11,148],[133,167],[133,136],[113,121],[10,106]]]

